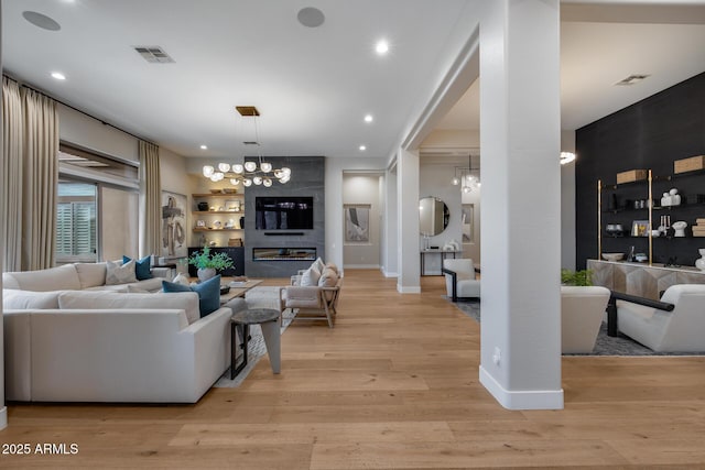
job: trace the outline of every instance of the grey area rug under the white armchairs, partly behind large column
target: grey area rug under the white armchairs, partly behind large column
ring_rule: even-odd
[[[446,296],[444,296],[451,302]],[[454,304],[460,311],[480,323],[480,300],[459,300]],[[603,321],[597,341],[593,352],[571,353],[563,356],[705,356],[704,352],[657,352],[638,343],[631,338],[619,335],[618,337],[607,336],[607,323]]]

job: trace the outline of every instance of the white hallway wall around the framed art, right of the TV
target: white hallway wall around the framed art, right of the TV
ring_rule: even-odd
[[[381,178],[379,174],[343,175],[343,204],[370,206],[369,242],[344,242],[344,267],[362,269],[380,266],[380,179],[383,178]],[[341,219],[340,223],[345,223],[345,219]]]

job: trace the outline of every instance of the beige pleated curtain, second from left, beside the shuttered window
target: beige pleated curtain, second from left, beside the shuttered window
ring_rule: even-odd
[[[58,114],[53,99],[29,88],[22,88],[21,95],[24,117],[21,266],[22,271],[43,270],[54,265]]]

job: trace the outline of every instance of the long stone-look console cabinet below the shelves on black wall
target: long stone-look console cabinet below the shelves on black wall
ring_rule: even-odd
[[[675,284],[705,284],[705,272],[692,266],[587,260],[587,269],[593,271],[595,285],[652,300]]]

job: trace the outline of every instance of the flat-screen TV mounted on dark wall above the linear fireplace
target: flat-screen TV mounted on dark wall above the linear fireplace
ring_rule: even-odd
[[[313,197],[258,196],[254,217],[258,230],[311,230]]]

